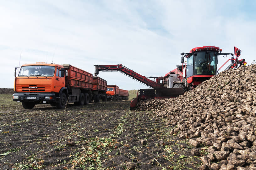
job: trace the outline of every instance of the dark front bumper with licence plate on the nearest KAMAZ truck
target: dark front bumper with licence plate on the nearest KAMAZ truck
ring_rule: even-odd
[[[13,101],[52,103],[56,102],[56,96],[54,93],[14,93]]]

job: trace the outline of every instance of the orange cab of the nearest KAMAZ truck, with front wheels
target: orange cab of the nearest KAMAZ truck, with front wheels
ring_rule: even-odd
[[[24,108],[35,104],[59,102],[58,94],[65,88],[65,69],[62,65],[34,63],[24,64],[16,76],[13,101],[22,102]]]

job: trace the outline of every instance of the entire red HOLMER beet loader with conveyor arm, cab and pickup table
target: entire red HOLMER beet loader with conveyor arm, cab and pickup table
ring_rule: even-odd
[[[166,73],[165,76],[149,77],[154,78],[155,81],[134,72],[122,64],[94,65],[95,75],[98,75],[99,71],[120,71],[121,73],[150,87],[151,89],[138,90],[137,98],[135,98],[130,105],[131,109],[133,109],[136,107],[139,100],[149,98],[175,98],[182,95],[185,91],[195,88],[203,81],[210,79],[220,70],[217,70],[218,56],[232,56],[231,59],[229,59],[231,60],[231,64],[226,69],[246,65],[245,59],[238,60],[238,57],[241,55],[241,50],[237,47],[234,47],[234,49],[236,58],[234,58],[234,54],[232,53],[221,53],[222,50],[219,47],[195,47],[191,49],[189,53],[181,53],[182,64],[177,65],[177,68]],[[226,63],[224,63],[220,68],[222,68]]]

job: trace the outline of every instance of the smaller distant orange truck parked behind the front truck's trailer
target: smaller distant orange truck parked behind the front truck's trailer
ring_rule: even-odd
[[[119,89],[117,85],[107,85],[107,100],[128,100],[128,90]]]

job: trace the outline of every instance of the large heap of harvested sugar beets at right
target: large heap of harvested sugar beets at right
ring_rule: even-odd
[[[189,138],[193,155],[208,146],[199,169],[256,170],[255,64],[223,71],[177,98],[140,101],[138,109],[166,118],[171,134]]]

